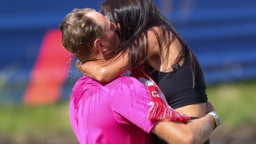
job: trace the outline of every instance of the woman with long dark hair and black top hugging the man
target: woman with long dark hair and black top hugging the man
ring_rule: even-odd
[[[77,67],[85,75],[108,82],[141,65],[182,114],[203,117],[207,95],[201,67],[190,48],[152,0],[106,0],[101,5],[117,27],[121,45],[106,63],[89,61]],[[153,136],[154,143],[164,143]],[[209,140],[206,142],[209,143]]]

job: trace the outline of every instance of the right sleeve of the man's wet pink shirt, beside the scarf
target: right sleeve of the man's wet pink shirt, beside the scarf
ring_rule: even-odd
[[[145,85],[133,77],[121,80],[116,86],[112,112],[117,122],[134,124],[147,133],[157,121],[150,121],[146,117],[152,105],[148,90]]]

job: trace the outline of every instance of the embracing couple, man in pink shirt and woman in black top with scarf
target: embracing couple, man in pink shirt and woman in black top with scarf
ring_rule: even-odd
[[[220,123],[202,70],[155,3],[106,0],[100,12],[74,9],[60,24],[84,74],[70,100],[79,143],[210,143]]]

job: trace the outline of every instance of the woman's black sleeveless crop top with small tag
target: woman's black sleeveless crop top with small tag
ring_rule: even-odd
[[[197,65],[195,66],[195,87],[193,88],[193,75],[187,60],[180,68],[172,72],[153,71],[151,77],[158,84],[173,109],[190,104],[205,103],[208,100],[203,77]],[[194,118],[191,117],[191,119]],[[152,134],[152,138],[154,144],[166,144],[154,134]],[[210,144],[209,139],[204,144]]]

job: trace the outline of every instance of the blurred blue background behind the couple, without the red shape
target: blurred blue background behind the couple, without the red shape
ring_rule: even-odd
[[[73,8],[99,10],[101,2],[1,1],[0,94],[8,95],[10,101],[21,101],[44,34],[49,29],[58,29],[60,21]],[[207,84],[255,79],[256,1],[155,0],[155,3],[196,54]],[[71,70],[76,71],[74,64]],[[73,82],[81,76],[77,72],[72,75]],[[71,91],[73,84],[69,83],[71,78],[67,77],[61,94],[64,98]]]

